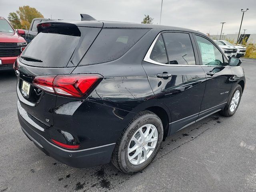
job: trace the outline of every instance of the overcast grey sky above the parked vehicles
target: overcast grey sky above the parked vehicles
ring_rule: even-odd
[[[8,17],[19,6],[29,5],[45,18],[80,19],[80,13],[90,14],[97,20],[140,23],[144,14],[159,24],[161,0],[0,0],[0,15]],[[256,0],[163,0],[162,25],[220,34],[220,22],[226,22],[224,34],[238,33],[244,14],[242,29],[256,33]]]

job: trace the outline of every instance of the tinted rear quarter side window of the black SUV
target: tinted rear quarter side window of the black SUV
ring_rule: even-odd
[[[104,28],[80,65],[104,63],[124,55],[148,29]]]

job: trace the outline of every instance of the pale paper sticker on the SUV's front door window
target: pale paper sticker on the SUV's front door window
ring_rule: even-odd
[[[213,45],[209,45],[206,43],[198,42],[199,49],[202,55],[203,64],[208,64],[210,62],[215,61],[215,54]]]

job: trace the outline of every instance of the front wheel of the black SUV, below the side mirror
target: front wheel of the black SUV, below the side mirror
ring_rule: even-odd
[[[238,84],[234,89],[231,98],[229,98],[228,103],[225,108],[220,111],[220,114],[226,117],[230,117],[235,114],[242,97],[242,87]]]

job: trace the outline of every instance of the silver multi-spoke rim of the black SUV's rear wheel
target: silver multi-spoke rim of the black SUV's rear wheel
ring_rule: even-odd
[[[158,141],[156,126],[146,124],[140,127],[132,136],[128,146],[128,160],[133,165],[145,162],[153,153]]]

